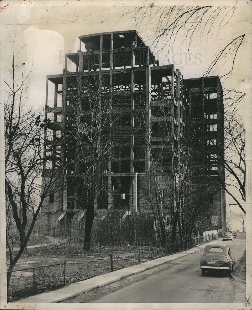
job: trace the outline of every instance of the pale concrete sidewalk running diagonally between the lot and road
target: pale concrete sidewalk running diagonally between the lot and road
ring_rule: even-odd
[[[217,239],[207,244],[216,244],[221,240],[222,239]],[[79,281],[79,282],[70,284],[68,286],[65,286],[63,288],[54,290],[54,291],[45,292],[42,294],[30,296],[28,298],[20,299],[20,300],[15,301],[15,303],[43,303],[43,302],[44,303],[45,302],[56,303],[56,302],[60,302],[70,297],[80,295],[82,293],[86,293],[97,287],[101,287],[109,283],[118,281],[122,278],[129,277],[133,274],[143,272],[145,270],[160,266],[162,264],[173,261],[180,257],[193,254],[197,252],[198,250],[204,249],[205,246],[206,244],[202,244],[190,250],[186,250],[183,252],[179,252],[179,253],[164,256],[164,257],[160,257],[157,259],[150,260],[148,262],[144,262],[144,263],[137,264],[137,265],[127,267],[127,268],[123,268],[123,269],[116,270],[113,272],[105,273],[101,276],[93,277],[93,278],[90,278],[84,281]]]

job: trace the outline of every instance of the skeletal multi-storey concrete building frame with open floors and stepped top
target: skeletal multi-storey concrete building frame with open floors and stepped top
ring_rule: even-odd
[[[212,228],[225,231],[225,193],[216,181],[224,180],[218,160],[220,150],[224,154],[219,77],[183,79],[173,64],[159,65],[135,30],[79,40],[77,53],[65,55],[63,74],[48,75],[46,81],[45,113],[51,122],[45,126],[44,177],[65,165],[42,210],[60,209],[48,222],[81,222],[88,207],[96,216],[109,208],[127,215],[150,210],[153,178],[162,195],[168,193],[167,184],[188,161],[184,140],[193,139],[186,186],[217,184],[209,198]],[[73,123],[82,124],[74,136]],[[164,213],[169,219],[169,208]]]

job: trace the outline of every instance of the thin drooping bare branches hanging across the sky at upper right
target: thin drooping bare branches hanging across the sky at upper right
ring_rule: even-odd
[[[153,33],[148,36],[147,43],[158,52],[164,48],[168,53],[177,44],[188,40],[188,51],[193,45],[194,40],[204,40],[211,32],[218,36],[221,29],[229,26],[235,18],[236,6],[179,6],[167,5],[157,6],[153,2],[149,5],[130,7],[122,13],[122,16],[128,16],[138,27],[144,27],[151,23],[153,19],[158,22],[153,27]],[[211,30],[210,30],[211,29]],[[208,69],[204,73],[208,76],[212,69],[222,61],[232,60],[232,67],[221,77],[228,78],[233,71],[237,51],[245,41],[245,34],[236,34],[230,42],[214,53],[213,60],[210,60]]]

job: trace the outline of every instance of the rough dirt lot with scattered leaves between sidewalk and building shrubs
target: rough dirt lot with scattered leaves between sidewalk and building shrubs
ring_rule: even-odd
[[[110,253],[113,253],[113,270],[137,264],[139,249],[140,263],[167,255],[162,248],[151,248],[147,246],[93,246],[91,251],[87,253],[83,251],[83,244],[51,245],[40,248],[27,248],[27,252],[21,256],[14,271],[64,263],[64,260],[66,260],[66,285],[68,285],[73,282],[82,281],[110,272]],[[51,272],[53,272],[53,268],[51,268]],[[29,282],[33,281],[32,279],[31,276]],[[15,276],[12,277],[11,281],[14,280],[18,281],[18,278]],[[28,279],[26,280],[28,281]],[[64,266],[61,267],[60,272],[58,270],[55,280],[60,282],[64,281]],[[44,286],[44,288],[41,287],[44,291],[53,288],[55,288],[54,284]],[[36,291],[36,293],[38,293],[38,291]],[[15,300],[24,297],[25,290],[22,290],[20,294],[13,294],[11,299]],[[27,291],[25,295],[28,296],[29,294],[30,292]]]

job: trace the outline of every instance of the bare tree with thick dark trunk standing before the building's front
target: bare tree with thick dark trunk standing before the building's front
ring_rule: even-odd
[[[68,144],[66,167],[72,170],[76,203],[86,209],[84,248],[88,250],[94,206],[111,201],[111,179],[104,174],[111,171],[112,157],[116,161],[113,126],[118,125],[120,111],[118,108],[112,110],[109,79],[100,72],[90,72],[78,84],[71,79],[68,83],[72,110],[64,131],[65,144]],[[120,142],[117,139],[117,144]],[[81,201],[85,202],[80,205]]]

